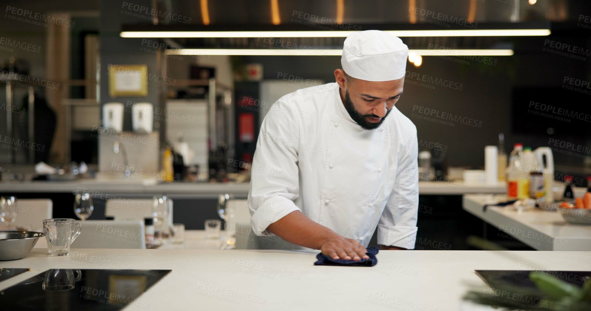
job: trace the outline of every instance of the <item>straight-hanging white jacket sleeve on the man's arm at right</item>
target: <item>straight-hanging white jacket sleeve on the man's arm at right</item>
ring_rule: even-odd
[[[409,131],[411,132],[411,131]],[[418,216],[417,128],[401,143],[394,189],[378,221],[378,244],[414,248]]]

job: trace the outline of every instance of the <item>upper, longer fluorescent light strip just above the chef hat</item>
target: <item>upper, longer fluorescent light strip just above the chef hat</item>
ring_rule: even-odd
[[[337,38],[354,31],[122,31],[123,38]],[[397,37],[506,37],[549,35],[548,29],[387,30]]]

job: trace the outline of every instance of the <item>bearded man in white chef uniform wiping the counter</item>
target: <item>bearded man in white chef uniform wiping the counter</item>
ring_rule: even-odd
[[[248,200],[255,234],[287,241],[269,248],[361,260],[376,227],[382,250],[414,248],[417,129],[394,107],[407,55],[400,38],[355,32],[336,83],[274,104],[261,126]]]

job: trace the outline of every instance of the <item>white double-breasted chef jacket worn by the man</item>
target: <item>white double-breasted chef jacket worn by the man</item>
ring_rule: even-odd
[[[287,94],[271,106],[256,143],[252,230],[272,235],[269,224],[300,210],[365,247],[377,227],[378,244],[412,249],[417,152],[417,128],[396,107],[377,129],[365,130],[343,106],[337,83]],[[279,248],[308,249],[283,243],[289,246]]]

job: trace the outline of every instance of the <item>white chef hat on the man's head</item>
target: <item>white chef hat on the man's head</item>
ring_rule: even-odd
[[[400,38],[379,30],[353,32],[343,44],[340,64],[349,76],[366,81],[404,77],[408,47]]]

